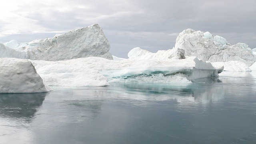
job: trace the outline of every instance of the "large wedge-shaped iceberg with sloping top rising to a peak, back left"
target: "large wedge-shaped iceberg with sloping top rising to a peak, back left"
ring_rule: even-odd
[[[53,38],[0,44],[0,57],[58,61],[90,56],[113,59],[110,43],[98,24],[56,34]]]

